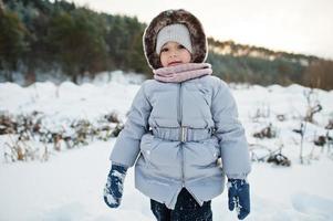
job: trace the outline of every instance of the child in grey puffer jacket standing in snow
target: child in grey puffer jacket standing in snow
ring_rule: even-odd
[[[111,154],[104,200],[117,208],[127,168],[158,221],[211,221],[211,199],[228,177],[229,209],[250,212],[244,130],[227,84],[211,76],[199,20],[167,10],[144,33],[154,78],[143,83]],[[220,159],[220,160],[219,160]]]

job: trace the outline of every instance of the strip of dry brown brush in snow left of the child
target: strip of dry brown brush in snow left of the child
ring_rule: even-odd
[[[51,150],[61,151],[108,140],[118,136],[123,124],[117,114],[110,113],[96,122],[67,119],[66,124],[49,125],[50,119],[40,112],[24,115],[0,115],[0,135],[7,136],[3,154],[7,161],[48,160]],[[53,148],[52,148],[53,146]]]

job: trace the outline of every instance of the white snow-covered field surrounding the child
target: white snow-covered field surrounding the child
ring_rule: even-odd
[[[67,119],[96,119],[116,110],[124,120],[139,85],[112,81],[74,85],[65,82],[35,83],[29,87],[0,84],[0,112],[7,114],[42,112],[50,127],[64,125]],[[312,140],[325,135],[325,125],[333,119],[333,91],[315,90],[323,109],[315,114],[316,124],[308,124],[304,137],[304,164],[300,164],[300,117],[305,115],[309,88],[291,85],[244,86],[233,85],[240,119],[248,141],[253,147],[271,150],[282,147],[291,167],[268,162],[253,162],[249,176],[252,221],[329,221],[333,220],[333,158],[325,146],[314,147]],[[284,122],[277,119],[285,116]],[[254,118],[258,115],[260,117]],[[269,123],[277,138],[259,139],[252,136]],[[332,136],[331,131],[331,136]],[[124,198],[119,209],[108,209],[102,199],[110,169],[108,155],[115,141],[93,141],[71,150],[52,151],[48,161],[8,162],[3,149],[8,136],[0,136],[0,220],[94,220],[147,221],[154,220],[149,199],[134,188],[133,170],[125,179]],[[252,146],[251,146],[252,147]],[[267,150],[256,150],[258,156]],[[310,154],[312,155],[310,156]],[[227,192],[212,201],[214,220],[237,220],[228,211]]]

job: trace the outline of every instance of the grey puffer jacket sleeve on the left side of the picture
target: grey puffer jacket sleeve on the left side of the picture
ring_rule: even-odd
[[[142,136],[148,130],[152,105],[145,95],[145,83],[134,97],[124,129],[119,133],[110,160],[113,164],[132,167],[139,154]]]

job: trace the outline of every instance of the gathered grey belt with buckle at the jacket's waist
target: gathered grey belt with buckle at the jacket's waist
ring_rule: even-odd
[[[154,137],[171,141],[199,141],[208,139],[214,134],[214,128],[181,127],[153,127]]]

